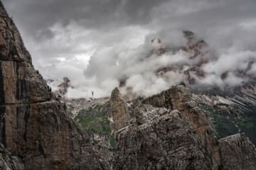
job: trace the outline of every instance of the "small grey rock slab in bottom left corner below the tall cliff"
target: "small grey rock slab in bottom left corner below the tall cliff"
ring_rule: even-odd
[[[0,169],[5,169],[5,170],[23,170],[24,169],[23,164],[21,164],[18,158],[12,156],[11,153],[8,152],[4,148],[4,145],[2,144],[0,144]]]

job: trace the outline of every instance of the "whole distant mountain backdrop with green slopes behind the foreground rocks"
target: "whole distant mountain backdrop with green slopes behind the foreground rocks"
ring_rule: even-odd
[[[169,72],[183,72],[185,77],[180,83],[186,87],[191,93],[191,100],[198,106],[200,114],[205,116],[207,124],[213,132],[213,136],[218,140],[223,137],[235,135],[237,133],[245,133],[247,137],[256,145],[256,83],[255,79],[247,74],[239,74],[240,77],[247,77],[248,81],[240,86],[206,86],[198,84],[195,79],[203,79],[206,73],[203,66],[208,62],[213,62],[217,58],[212,52],[209,52],[207,43],[204,40],[196,39],[191,31],[183,31],[186,38],[186,44],[182,47],[165,47],[161,45],[159,38],[154,38],[151,43],[156,44],[156,48],[152,53],[156,57],[168,54],[168,52],[178,52],[183,50],[188,54],[186,70],[184,65],[167,65],[159,67],[156,75],[165,77]],[[221,79],[228,77],[224,73]],[[56,96],[61,96],[61,101],[67,106],[68,113],[73,116],[83,129],[85,129],[90,137],[93,145],[105,145],[110,151],[116,149],[117,143],[114,140],[115,129],[119,127],[114,125],[113,116],[110,106],[110,98],[67,98],[65,94],[70,87],[68,78],[63,79],[63,83],[48,80],[50,86],[55,84],[52,89]],[[126,89],[126,80],[119,82],[120,89]],[[144,96],[137,96],[129,88],[127,88],[124,98],[127,99],[128,105],[135,101],[142,101]],[[167,102],[167,101],[159,101]],[[164,106],[166,107],[166,106]],[[171,108],[173,109],[173,108]],[[124,125],[124,118],[120,119],[120,124]],[[196,125],[201,127],[202,125]],[[98,145],[97,145],[98,146]],[[110,159],[111,154],[107,154]]]

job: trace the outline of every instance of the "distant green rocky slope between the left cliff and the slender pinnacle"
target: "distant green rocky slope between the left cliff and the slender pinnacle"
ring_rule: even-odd
[[[72,87],[68,77],[64,77],[63,82],[56,79],[46,79],[46,82],[63,103],[68,115],[87,132],[92,145],[100,142],[114,150],[114,134],[110,128],[110,98],[68,98],[68,88]]]

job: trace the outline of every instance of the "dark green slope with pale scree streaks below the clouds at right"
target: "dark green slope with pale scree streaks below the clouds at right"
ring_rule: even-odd
[[[206,115],[218,139],[245,132],[256,144],[256,86],[251,84],[241,89],[242,96],[213,96],[193,94],[201,112]]]

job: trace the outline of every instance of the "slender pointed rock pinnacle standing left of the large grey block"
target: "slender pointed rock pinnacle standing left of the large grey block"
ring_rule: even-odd
[[[117,87],[112,91],[110,104],[113,119],[112,129],[116,132],[117,130],[129,125],[128,106]]]

